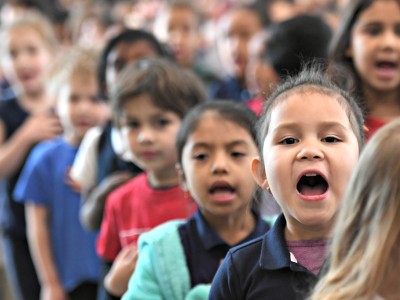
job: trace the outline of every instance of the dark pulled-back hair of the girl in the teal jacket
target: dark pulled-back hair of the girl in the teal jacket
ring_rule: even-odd
[[[255,124],[257,115],[241,102],[220,100],[197,105],[185,116],[176,138],[178,162],[182,164],[182,152],[189,136],[196,130],[197,125],[206,112],[215,112],[223,120],[230,121],[246,129],[257,144]],[[212,134],[212,133],[210,133]]]

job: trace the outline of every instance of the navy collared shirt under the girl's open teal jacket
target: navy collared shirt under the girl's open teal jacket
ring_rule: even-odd
[[[254,213],[254,216],[256,227],[253,232],[236,245],[260,237],[268,231],[269,225],[257,213]],[[200,210],[179,226],[178,230],[186,255],[191,286],[211,283],[221,261],[232,246],[228,245],[207,223]]]

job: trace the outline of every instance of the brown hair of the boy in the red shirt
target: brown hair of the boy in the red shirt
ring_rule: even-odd
[[[164,59],[140,60],[121,72],[111,93],[117,124],[122,105],[140,95],[149,95],[154,105],[182,119],[190,108],[207,100],[203,84],[191,71]]]

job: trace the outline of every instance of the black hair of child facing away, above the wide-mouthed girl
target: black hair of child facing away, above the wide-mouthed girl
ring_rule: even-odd
[[[319,16],[299,15],[272,24],[267,32],[264,60],[281,79],[296,75],[310,60],[327,60],[332,29]]]

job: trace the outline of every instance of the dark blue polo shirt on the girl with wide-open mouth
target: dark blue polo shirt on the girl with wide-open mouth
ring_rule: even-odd
[[[290,260],[285,226],[281,215],[263,237],[231,249],[209,299],[305,299],[317,276]]]

